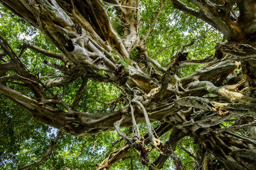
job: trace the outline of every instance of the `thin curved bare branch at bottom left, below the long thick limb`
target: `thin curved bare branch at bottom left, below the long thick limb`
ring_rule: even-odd
[[[61,131],[58,132],[56,138],[51,141],[51,145],[50,145],[48,151],[42,156],[41,159],[38,159],[38,160],[36,160],[36,162],[28,164],[27,166],[20,167],[19,170],[27,169],[28,167],[32,167],[32,166],[36,166],[36,165],[40,164],[43,160],[45,160],[49,155],[51,155],[52,150],[54,149],[54,146],[56,145],[57,141],[60,139],[60,136],[61,136],[62,133],[63,132],[61,132]]]

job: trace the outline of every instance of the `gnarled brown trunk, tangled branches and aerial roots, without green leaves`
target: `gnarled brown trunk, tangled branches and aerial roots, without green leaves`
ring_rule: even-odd
[[[60,70],[63,76],[40,81],[38,76],[29,73],[1,37],[1,49],[4,55],[10,56],[10,61],[0,62],[0,93],[28,110],[39,122],[70,135],[91,136],[131,126],[137,129],[132,137],[120,131],[127,145],[111,153],[99,169],[108,169],[129,153],[130,147],[138,151],[141,164],[151,169],[154,166],[161,168],[169,156],[173,158],[177,142],[186,135],[191,136],[198,145],[196,161],[200,166],[197,168],[255,169],[255,134],[244,136],[232,128],[221,129],[220,124],[236,118],[236,125],[249,124],[245,131],[250,132],[250,129],[255,128],[255,124],[250,123],[256,117],[256,2],[191,0],[200,9],[197,11],[178,0],[171,1],[174,8],[204,20],[223,33],[227,42],[216,45],[214,59],[186,60],[186,53],[179,52],[170,67],[163,67],[148,57],[145,49],[147,36],[167,1],[161,2],[156,20],[152,22],[146,36],[141,38],[140,1],[105,0],[106,3],[115,4],[116,13],[125,24],[124,36],[120,38],[100,0],[0,0],[4,6],[44,32],[61,53],[47,52],[33,45],[24,45],[24,48],[31,48],[65,63],[58,66],[45,61],[45,64]],[[142,64],[129,57],[134,48],[138,49],[138,57],[145,59],[143,66],[150,64],[154,67],[158,78],[156,74],[143,71]],[[120,60],[130,62],[120,64]],[[176,76],[180,67],[196,63],[208,64],[184,78]],[[240,64],[242,80],[239,75],[237,78],[232,75]],[[6,75],[9,70],[17,74]],[[105,71],[106,75],[99,74],[99,70]],[[58,94],[51,92],[52,87],[61,87],[79,77],[84,82],[73,106],[67,106]],[[121,85],[122,95],[128,101],[124,108],[109,113],[76,111],[88,79],[111,82],[118,87]],[[6,86],[9,80],[22,82],[33,92],[34,98]],[[57,105],[64,109],[61,110]],[[164,120],[164,126],[161,127],[163,131],[173,127],[168,143],[159,141],[152,131],[150,122],[156,120]],[[140,136],[136,126],[143,122],[147,124],[148,138]],[[156,130],[158,135],[163,134],[160,130]],[[145,144],[149,141],[161,153],[154,166],[148,165],[149,149]],[[175,162],[178,168],[179,161]]]

